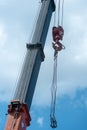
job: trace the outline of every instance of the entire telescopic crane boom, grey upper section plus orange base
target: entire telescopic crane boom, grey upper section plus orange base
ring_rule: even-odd
[[[30,124],[29,110],[41,62],[44,61],[44,45],[47,37],[54,0],[41,1],[32,43],[27,44],[27,53],[13,101],[8,106],[8,120],[5,130],[26,130]]]

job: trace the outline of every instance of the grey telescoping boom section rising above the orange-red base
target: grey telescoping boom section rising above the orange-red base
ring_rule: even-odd
[[[31,106],[41,61],[44,60],[43,48],[54,8],[54,0],[44,0],[42,2],[32,43],[27,44],[27,54],[14,99],[26,102],[28,109]]]

